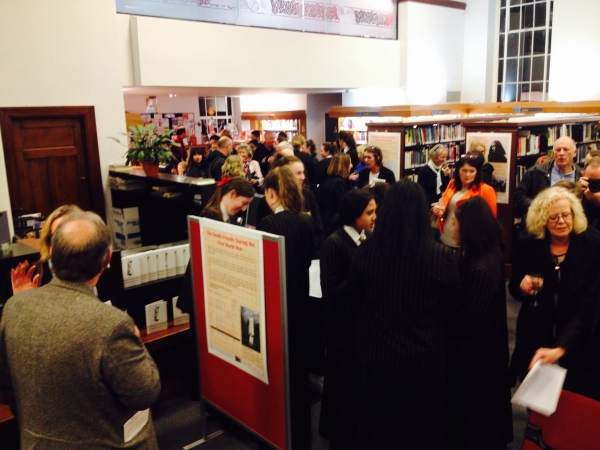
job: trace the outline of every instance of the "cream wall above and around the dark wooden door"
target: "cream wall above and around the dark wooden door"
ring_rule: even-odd
[[[0,107],[94,106],[102,177],[125,131],[114,0],[3,1]],[[117,55],[117,56],[115,56]],[[10,210],[0,142],[0,210]]]

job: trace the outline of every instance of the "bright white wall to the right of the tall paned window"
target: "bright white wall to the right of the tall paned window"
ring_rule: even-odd
[[[554,0],[549,99],[600,100],[600,2]]]

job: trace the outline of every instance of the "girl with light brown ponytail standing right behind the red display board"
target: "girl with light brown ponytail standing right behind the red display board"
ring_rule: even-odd
[[[269,171],[263,184],[273,214],[258,229],[285,237],[285,274],[288,317],[292,444],[308,450],[311,445],[310,381],[308,375],[309,275],[315,239],[314,221],[303,214],[304,198],[288,166]]]

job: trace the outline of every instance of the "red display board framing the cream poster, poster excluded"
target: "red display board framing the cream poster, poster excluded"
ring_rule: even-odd
[[[190,216],[189,236],[195,296],[194,315],[200,361],[200,393],[222,411],[273,447],[291,449],[285,256],[283,238],[262,234],[265,280],[265,320],[269,384],[208,352],[200,222]]]

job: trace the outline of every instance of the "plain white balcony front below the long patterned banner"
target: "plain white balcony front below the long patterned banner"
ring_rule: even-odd
[[[402,59],[398,41],[152,17],[137,17],[135,22],[137,85],[268,89],[398,87]],[[174,43],[177,54],[189,55],[185,69],[174,70],[169,63],[176,59]],[[210,49],[213,51],[209,53]],[[158,61],[157,55],[160,55]],[[208,58],[214,55],[228,55],[229,59],[209,67]],[[249,62],[251,55],[256,56],[255,62]],[[292,62],[288,65],[279,60]],[[385,70],[373,70],[382,61]]]

